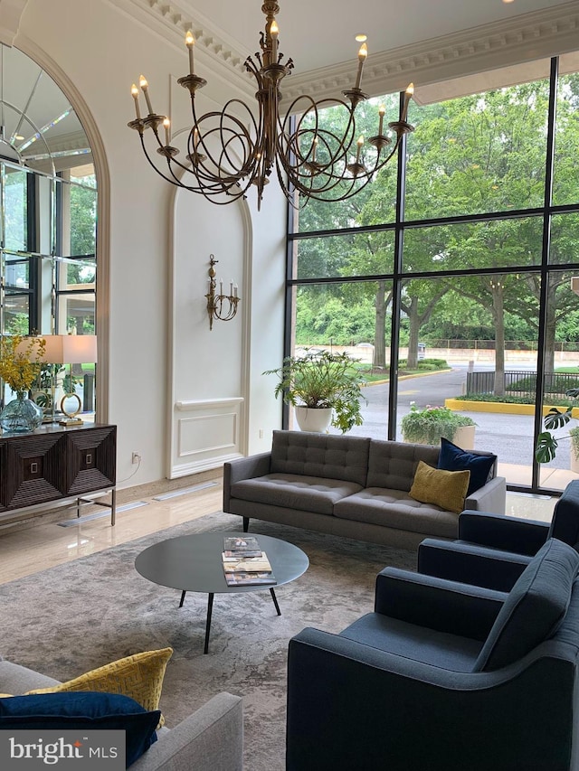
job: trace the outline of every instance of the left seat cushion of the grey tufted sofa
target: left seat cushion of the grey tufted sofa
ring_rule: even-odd
[[[299,509],[302,512],[332,514],[334,504],[357,493],[361,485],[342,479],[299,474],[267,474],[232,484],[233,498]]]

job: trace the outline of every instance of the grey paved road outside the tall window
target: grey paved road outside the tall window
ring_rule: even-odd
[[[398,415],[396,436],[401,438],[400,421],[410,411],[414,401],[419,408],[427,404],[443,405],[445,399],[460,396],[467,378],[466,366],[453,367],[449,372],[437,372],[422,377],[401,380],[398,385]],[[364,425],[352,434],[377,439],[387,438],[388,383],[368,386],[364,394]],[[475,447],[496,453],[504,463],[531,465],[533,457],[533,422],[531,415],[498,415],[491,412],[465,412],[477,424]],[[558,432],[565,436],[565,430]],[[569,468],[568,440],[562,441],[551,466]]]

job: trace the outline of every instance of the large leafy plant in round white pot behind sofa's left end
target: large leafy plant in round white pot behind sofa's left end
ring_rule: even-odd
[[[365,382],[356,368],[356,360],[347,353],[312,351],[303,356],[287,356],[277,370],[264,375],[277,375],[276,397],[296,408],[296,419],[302,431],[327,431],[332,425],[345,434],[363,422],[360,401]],[[324,410],[324,420],[316,418]]]

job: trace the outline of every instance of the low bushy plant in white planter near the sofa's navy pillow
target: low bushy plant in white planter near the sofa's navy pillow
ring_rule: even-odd
[[[401,428],[405,442],[437,446],[441,443],[441,437],[444,437],[462,449],[473,449],[476,425],[472,418],[453,412],[448,407],[431,407],[427,404],[424,409],[418,409],[416,403],[411,401],[410,412],[402,418]],[[462,428],[469,430],[460,436]]]

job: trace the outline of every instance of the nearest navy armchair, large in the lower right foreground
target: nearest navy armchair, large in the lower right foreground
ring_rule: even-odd
[[[570,771],[579,555],[508,594],[387,568],[375,612],[289,642],[287,771]]]

